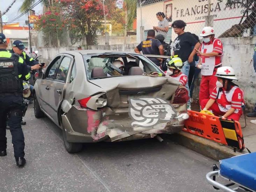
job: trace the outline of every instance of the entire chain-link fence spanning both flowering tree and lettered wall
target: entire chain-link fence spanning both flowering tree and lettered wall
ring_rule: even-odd
[[[46,47],[136,43],[158,25],[158,12],[169,23],[165,42],[177,36],[175,20],[196,35],[204,26],[213,26],[216,37],[256,35],[255,0],[62,0],[41,17],[41,41]]]

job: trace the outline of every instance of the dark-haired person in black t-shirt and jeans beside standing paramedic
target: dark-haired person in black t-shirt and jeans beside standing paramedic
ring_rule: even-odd
[[[173,55],[178,55],[182,59],[183,68],[182,73],[187,77],[189,76],[190,64],[193,62],[194,55],[197,53],[195,49],[199,49],[200,43],[192,36],[191,33],[186,33],[184,31],[186,23],[182,20],[177,20],[172,23],[172,28],[174,32],[178,35],[173,42]],[[192,51],[192,47],[195,49]],[[190,95],[189,84],[187,82],[187,91]],[[187,102],[187,108],[190,109],[190,100]]]

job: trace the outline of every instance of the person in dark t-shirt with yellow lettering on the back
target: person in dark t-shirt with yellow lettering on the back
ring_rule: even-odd
[[[148,31],[148,36],[145,41],[142,41],[134,51],[138,54],[142,53],[145,55],[164,55],[164,47],[162,43],[155,39],[155,30],[150,29]],[[157,66],[161,66],[163,59],[149,57],[149,59],[154,62]]]

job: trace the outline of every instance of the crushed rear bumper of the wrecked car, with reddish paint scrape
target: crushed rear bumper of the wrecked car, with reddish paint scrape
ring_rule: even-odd
[[[182,106],[186,108],[186,105]],[[178,116],[177,116],[178,115]],[[177,113],[172,121],[157,123],[152,127],[132,127],[127,109],[99,111],[77,106],[62,115],[62,124],[69,142],[127,141],[152,138],[157,134],[178,133],[184,127],[187,113]]]

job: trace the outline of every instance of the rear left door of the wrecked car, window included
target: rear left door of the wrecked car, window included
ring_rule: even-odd
[[[64,87],[67,80],[67,74],[69,72],[70,64],[73,62],[73,57],[64,54],[61,58],[61,62],[57,67],[54,79],[51,82],[49,90],[49,104],[51,105],[51,111],[49,115],[58,124],[58,107],[63,99]]]

